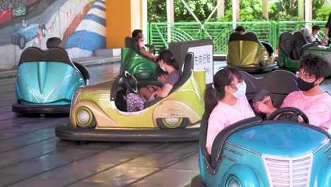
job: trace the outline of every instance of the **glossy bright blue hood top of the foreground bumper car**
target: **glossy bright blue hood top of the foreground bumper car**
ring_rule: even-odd
[[[301,125],[272,123],[245,128],[227,140],[262,154],[298,157],[314,152],[329,141],[329,137]]]

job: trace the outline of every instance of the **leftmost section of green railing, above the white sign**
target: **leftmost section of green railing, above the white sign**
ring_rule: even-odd
[[[180,42],[202,39],[201,23],[151,23],[149,25],[149,42],[156,51],[168,48],[168,42]]]

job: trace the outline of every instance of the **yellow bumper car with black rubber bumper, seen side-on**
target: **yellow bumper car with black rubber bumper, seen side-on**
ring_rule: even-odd
[[[193,54],[187,53],[178,84],[167,97],[146,102],[142,111],[127,112],[128,90],[137,92],[141,86],[129,72],[77,89],[69,124],[57,125],[57,137],[79,142],[199,140],[206,84],[204,71],[192,72],[193,65]]]

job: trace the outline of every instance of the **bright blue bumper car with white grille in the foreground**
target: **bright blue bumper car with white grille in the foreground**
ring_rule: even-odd
[[[283,88],[281,91],[270,91],[275,106],[281,105],[286,92],[296,89],[291,74],[274,71],[264,79],[249,80],[245,75],[248,98],[253,91],[268,85],[267,81],[274,81],[284,84],[279,87]],[[275,116],[279,116],[278,120],[272,120]],[[303,123],[296,121],[298,116]],[[297,108],[280,108],[269,120],[260,117],[241,120],[219,132],[208,154],[205,147],[208,120],[203,117],[200,175],[192,179],[191,186],[330,186],[331,136],[307,123],[307,116]]]

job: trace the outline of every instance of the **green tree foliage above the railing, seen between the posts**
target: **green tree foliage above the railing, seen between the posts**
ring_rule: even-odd
[[[209,21],[232,21],[232,0],[223,0],[225,16],[217,19],[216,13]],[[326,21],[331,6],[325,6],[326,0],[313,1],[313,20]],[[148,21],[166,22],[166,1],[147,0],[148,2]],[[199,21],[206,21],[211,11],[217,5],[217,0],[185,0]],[[181,0],[174,0],[175,22],[195,21],[190,11],[187,10]],[[241,0],[239,21],[265,21],[262,17],[261,0]],[[298,18],[298,0],[270,0],[269,1],[269,20],[270,21],[301,21]]]

